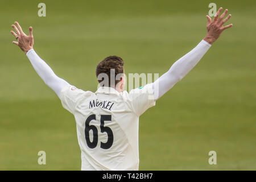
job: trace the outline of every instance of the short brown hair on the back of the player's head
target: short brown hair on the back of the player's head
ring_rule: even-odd
[[[111,85],[111,81],[110,81],[110,69],[114,69],[115,71],[115,77],[119,74],[119,73],[123,73],[123,60],[121,57],[118,56],[108,56],[106,57],[104,60],[102,60],[96,67],[96,76],[97,76],[97,80],[101,79],[98,78],[98,75],[100,75],[100,73],[105,73],[106,75],[108,75],[108,85],[104,85],[102,84],[102,81],[104,80],[104,78],[102,80],[98,80],[99,83],[101,83],[101,86],[115,86],[118,84],[118,82],[120,80],[115,80],[115,85]],[[114,77],[114,79],[115,79]],[[103,81],[106,82],[106,81]]]

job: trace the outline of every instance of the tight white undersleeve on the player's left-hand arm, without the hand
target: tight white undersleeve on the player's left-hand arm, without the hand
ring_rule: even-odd
[[[36,73],[42,78],[46,85],[51,88],[58,97],[60,97],[61,90],[69,85],[69,83],[62,78],[59,78],[55,75],[52,69],[44,62],[34,49],[30,49],[26,53],[28,59],[30,60],[32,66],[34,67]]]

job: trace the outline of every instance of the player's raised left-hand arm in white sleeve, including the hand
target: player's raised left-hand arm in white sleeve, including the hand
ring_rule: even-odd
[[[61,90],[69,85],[69,83],[62,78],[59,78],[55,75],[52,69],[44,62],[34,51],[34,38],[32,34],[32,27],[29,28],[29,35],[27,36],[22,31],[18,22],[15,22],[16,26],[13,24],[12,27],[14,31],[11,31],[18,40],[18,42],[13,41],[14,44],[20,47],[24,53],[26,53],[28,59],[30,60],[32,66],[34,67],[36,73],[42,78],[42,80],[46,83],[46,85],[51,88],[58,97],[60,97]]]

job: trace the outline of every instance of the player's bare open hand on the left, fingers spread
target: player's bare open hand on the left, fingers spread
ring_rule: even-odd
[[[32,34],[33,28],[32,27],[28,28],[29,35],[27,36],[22,31],[22,28],[19,26],[19,23],[18,22],[14,22],[14,23],[16,24],[16,26],[18,28],[14,24],[12,24],[11,27],[14,28],[16,33],[14,31],[11,31],[11,34],[13,34],[15,36],[15,38],[18,40],[18,42],[13,41],[13,43],[16,44],[17,46],[19,46],[19,48],[22,49],[22,51],[24,51],[24,53],[27,53],[27,51],[32,49],[34,46],[34,38],[33,38],[33,34]]]

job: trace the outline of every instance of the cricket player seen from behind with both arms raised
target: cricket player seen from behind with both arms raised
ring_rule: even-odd
[[[15,32],[11,34],[17,40],[13,43],[24,51],[36,73],[57,94],[63,107],[75,116],[81,170],[139,169],[139,116],[195,67],[222,31],[233,26],[223,26],[231,15],[224,18],[228,10],[220,15],[221,11],[222,7],[213,19],[207,15],[207,35],[192,51],[177,60],[158,80],[129,93],[124,90],[125,70],[121,57],[109,56],[97,65],[100,86],[96,92],[77,89],[56,76],[35,52],[32,27],[26,35],[18,22],[12,25]]]

